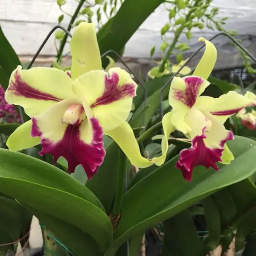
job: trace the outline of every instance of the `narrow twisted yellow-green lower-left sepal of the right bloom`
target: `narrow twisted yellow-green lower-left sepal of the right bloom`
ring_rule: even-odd
[[[170,134],[175,131],[175,127],[172,125],[172,112],[168,112],[163,116],[162,125],[164,137],[162,139],[162,155],[160,157],[154,157],[153,161],[157,166],[161,166],[166,160],[166,154],[169,148],[168,139]]]

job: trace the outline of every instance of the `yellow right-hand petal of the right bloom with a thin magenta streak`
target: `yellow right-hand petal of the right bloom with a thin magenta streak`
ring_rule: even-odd
[[[252,94],[247,92],[245,96],[242,96],[234,91],[230,91],[219,98],[200,96],[195,103],[195,107],[211,113],[224,123],[227,118],[241,109],[256,105],[256,99],[254,94]]]

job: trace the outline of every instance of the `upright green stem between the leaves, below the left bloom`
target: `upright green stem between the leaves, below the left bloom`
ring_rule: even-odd
[[[116,196],[113,207],[113,216],[118,216],[120,214],[122,196],[125,188],[125,174],[126,174],[126,156],[123,151],[119,150],[118,157],[118,172],[116,181]]]

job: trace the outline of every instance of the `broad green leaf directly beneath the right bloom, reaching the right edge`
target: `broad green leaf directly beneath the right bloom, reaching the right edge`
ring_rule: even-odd
[[[192,182],[187,182],[183,180],[180,170],[175,169],[175,157],[129,189],[123,197],[122,217],[114,233],[116,241],[109,251],[135,233],[172,217],[196,201],[244,180],[256,171],[255,141],[236,137],[228,145],[235,160],[227,166],[219,163],[219,172],[198,166],[194,169]],[[143,211],[138,212],[136,209]]]

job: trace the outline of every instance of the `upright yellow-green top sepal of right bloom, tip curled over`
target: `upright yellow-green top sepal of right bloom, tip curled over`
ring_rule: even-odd
[[[214,68],[214,65],[217,60],[217,50],[215,46],[208,40],[204,38],[199,38],[198,41],[205,43],[205,51],[204,55],[202,56],[201,60],[199,61],[197,67],[195,68],[195,71],[193,73],[193,76],[200,76],[201,78],[207,80],[210,74],[212,73],[212,70]]]

